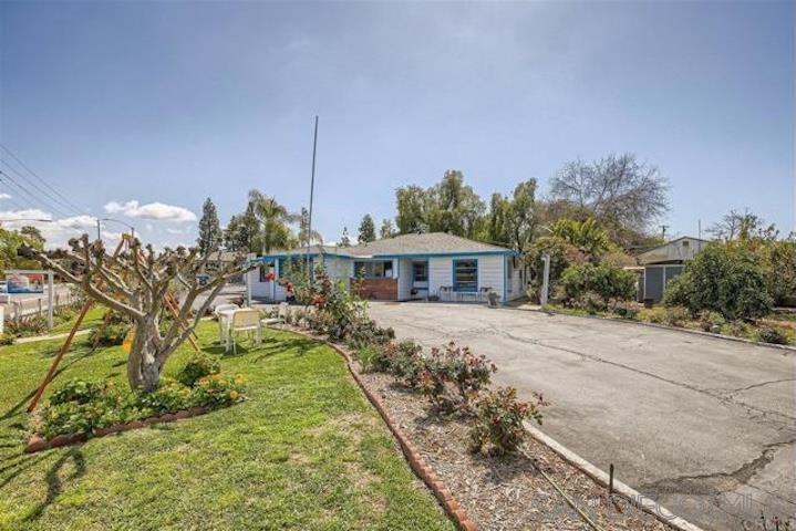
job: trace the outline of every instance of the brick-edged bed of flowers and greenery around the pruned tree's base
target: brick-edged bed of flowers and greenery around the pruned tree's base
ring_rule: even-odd
[[[32,417],[34,435],[25,451],[187,418],[245,399],[242,375],[225,377],[218,369],[201,375],[197,363],[189,362],[180,372],[182,382],[164,378],[148,394],[122,389],[112,381],[66,383]]]

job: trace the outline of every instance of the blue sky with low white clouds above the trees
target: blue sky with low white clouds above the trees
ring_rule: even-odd
[[[0,142],[159,244],[208,196],[223,223],[250,188],[307,205],[314,114],[327,240],[448,168],[488,199],[614,152],[668,177],[670,233],[731,208],[787,231],[794,111],[788,2],[0,3]]]

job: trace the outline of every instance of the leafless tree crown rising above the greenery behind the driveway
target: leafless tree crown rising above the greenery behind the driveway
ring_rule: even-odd
[[[567,164],[552,179],[552,199],[589,210],[606,227],[645,232],[669,210],[669,186],[657,167],[635,155]]]

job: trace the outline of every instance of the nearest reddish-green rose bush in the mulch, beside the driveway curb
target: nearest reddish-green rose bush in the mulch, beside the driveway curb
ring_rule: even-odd
[[[536,404],[517,400],[517,389],[500,387],[482,393],[475,400],[476,418],[471,430],[471,450],[480,451],[492,445],[492,451],[516,451],[525,439],[523,421],[534,419],[541,424],[539,408],[546,405],[540,395]]]

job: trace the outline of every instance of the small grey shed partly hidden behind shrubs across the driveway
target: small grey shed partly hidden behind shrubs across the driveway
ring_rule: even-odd
[[[641,299],[661,301],[669,281],[682,273],[683,264],[707,243],[707,240],[684,236],[638,254],[635,258],[644,268],[639,279]]]

